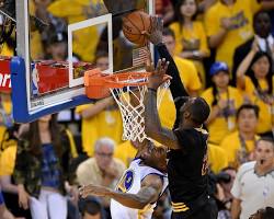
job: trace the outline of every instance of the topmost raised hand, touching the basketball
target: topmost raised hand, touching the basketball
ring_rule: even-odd
[[[163,20],[159,16],[150,16],[150,32],[144,31],[142,34],[155,45],[162,43]]]

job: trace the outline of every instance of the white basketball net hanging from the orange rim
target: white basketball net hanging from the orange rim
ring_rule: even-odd
[[[147,79],[145,79],[147,80]],[[127,80],[127,82],[130,79]],[[133,81],[134,82],[134,81]],[[163,83],[157,93],[157,107],[159,108],[162,97],[170,85],[170,81]],[[111,93],[118,104],[123,118],[123,140],[144,141],[147,138],[145,134],[145,104],[144,99],[147,85],[134,87],[127,85],[123,89],[111,89]]]

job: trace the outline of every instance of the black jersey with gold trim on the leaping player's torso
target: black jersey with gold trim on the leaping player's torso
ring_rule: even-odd
[[[178,129],[182,150],[169,152],[168,173],[174,212],[192,211],[207,199],[207,135],[202,129]]]

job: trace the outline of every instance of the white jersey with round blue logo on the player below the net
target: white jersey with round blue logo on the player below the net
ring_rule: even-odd
[[[141,181],[150,174],[159,175],[163,178],[162,193],[168,186],[167,174],[160,171],[141,164],[140,159],[135,159],[129,168],[123,174],[119,183],[116,186],[116,191],[122,193],[137,194],[141,188]],[[147,205],[144,209],[134,209],[123,206],[116,200],[111,200],[111,214],[113,219],[149,219],[152,216],[156,203]]]

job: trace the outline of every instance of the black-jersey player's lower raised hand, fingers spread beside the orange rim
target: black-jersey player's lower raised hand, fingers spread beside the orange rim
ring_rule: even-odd
[[[148,88],[157,90],[162,83],[170,80],[171,77],[165,74],[169,67],[169,61],[165,59],[159,59],[156,70],[151,72],[148,78]]]

